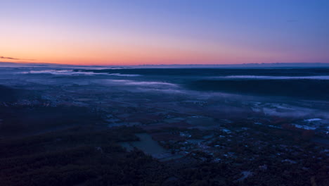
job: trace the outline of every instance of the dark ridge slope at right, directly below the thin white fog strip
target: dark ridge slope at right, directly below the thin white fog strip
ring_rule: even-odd
[[[328,80],[198,80],[187,85],[198,91],[221,91],[234,94],[329,99]]]

